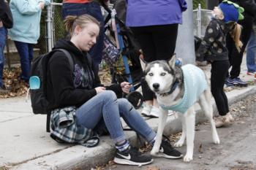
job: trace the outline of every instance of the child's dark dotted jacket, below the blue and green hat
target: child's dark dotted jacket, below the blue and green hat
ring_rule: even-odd
[[[228,60],[226,34],[231,30],[230,24],[223,20],[212,18],[206,28],[206,34],[196,51],[197,61],[224,61]]]

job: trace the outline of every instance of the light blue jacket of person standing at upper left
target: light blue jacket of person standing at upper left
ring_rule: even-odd
[[[11,0],[10,9],[13,17],[13,27],[10,37],[13,41],[37,44],[40,35],[40,19],[42,9],[39,1],[50,4],[50,0]]]

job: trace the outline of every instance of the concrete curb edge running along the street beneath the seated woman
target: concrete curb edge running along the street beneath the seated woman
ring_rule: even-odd
[[[247,96],[255,93],[256,87],[249,86],[245,89],[235,89],[227,92],[227,98],[229,104],[235,104],[236,102],[241,101]],[[216,115],[217,108],[214,101],[212,103],[214,106],[214,114]],[[197,112],[196,122],[203,123],[206,121],[206,118],[199,107],[196,107],[195,110]],[[158,119],[148,119],[146,122],[151,125],[151,128],[157,130]],[[168,117],[164,134],[169,136],[170,134],[176,134],[179,131],[181,131],[180,120],[176,119],[176,115]],[[135,132],[125,131],[125,134],[132,144],[135,145],[138,143]],[[108,161],[112,160],[115,150],[114,144],[109,136],[103,136],[101,137],[101,142],[97,147],[87,148],[80,145],[71,145],[67,149],[57,150],[47,155],[43,155],[40,158],[25,161],[19,165],[13,166],[11,169],[90,170],[91,167],[108,163]]]

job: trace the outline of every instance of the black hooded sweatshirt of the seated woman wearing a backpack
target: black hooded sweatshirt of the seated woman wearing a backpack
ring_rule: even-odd
[[[67,57],[62,52],[56,52],[50,58],[47,74],[47,99],[49,110],[75,106],[80,107],[90,98],[97,95],[94,88],[102,86],[96,74],[92,61],[85,52],[78,50],[72,42],[60,40],[55,49],[68,50],[74,60],[74,70],[71,72]],[[110,85],[108,90],[122,93],[120,85]]]

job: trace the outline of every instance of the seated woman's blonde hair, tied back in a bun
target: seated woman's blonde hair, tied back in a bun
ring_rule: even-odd
[[[76,26],[80,26],[80,28],[85,28],[89,23],[95,23],[97,26],[100,26],[100,23],[97,19],[92,17],[91,15],[67,15],[64,20],[64,26],[66,31],[72,36],[74,34],[74,30]]]

